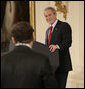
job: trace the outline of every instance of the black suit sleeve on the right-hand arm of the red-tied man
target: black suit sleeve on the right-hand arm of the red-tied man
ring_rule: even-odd
[[[72,43],[72,30],[68,23],[65,23],[64,26],[62,26],[61,35],[62,41],[58,44],[60,50],[68,49]]]

